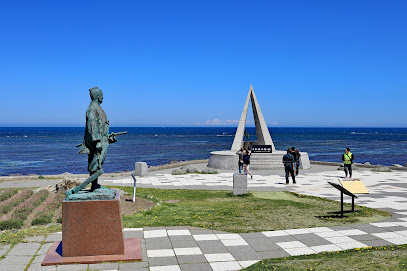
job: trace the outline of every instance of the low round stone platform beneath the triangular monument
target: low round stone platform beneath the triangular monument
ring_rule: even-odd
[[[282,160],[286,153],[286,151],[274,151],[273,153],[253,153],[250,157],[250,170],[284,169]],[[300,168],[311,168],[308,153],[300,153]],[[238,155],[234,151],[213,151],[209,157],[208,167],[238,171],[238,162]]]

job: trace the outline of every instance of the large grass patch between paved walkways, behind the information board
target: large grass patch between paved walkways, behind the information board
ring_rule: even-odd
[[[119,187],[132,193],[132,187]],[[228,232],[256,232],[327,227],[380,221],[388,212],[356,206],[356,212],[340,218],[340,203],[288,192],[233,196],[229,191],[164,190],[138,188],[140,197],[160,204],[148,211],[123,216],[124,227],[189,225]],[[257,195],[257,196],[256,196]],[[175,203],[165,203],[177,200]],[[345,204],[345,210],[350,209]]]

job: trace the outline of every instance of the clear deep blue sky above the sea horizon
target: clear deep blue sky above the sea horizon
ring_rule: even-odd
[[[407,127],[406,1],[2,1],[0,126]]]

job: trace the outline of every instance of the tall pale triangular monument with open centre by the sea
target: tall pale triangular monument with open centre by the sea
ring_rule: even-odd
[[[235,134],[235,139],[232,144],[232,151],[237,152],[240,148],[243,148],[243,136],[246,128],[247,111],[249,110],[249,102],[252,102],[254,125],[256,126],[256,136],[258,145],[271,145],[271,149],[274,152],[273,140],[271,139],[270,132],[267,128],[266,121],[261,113],[259,102],[257,101],[256,94],[252,85],[250,85],[249,93],[247,94],[246,103],[243,107],[242,116],[240,117],[239,126]]]

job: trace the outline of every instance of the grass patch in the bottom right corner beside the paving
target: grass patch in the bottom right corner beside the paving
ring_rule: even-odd
[[[367,247],[268,259],[243,270],[407,270],[407,245]]]

